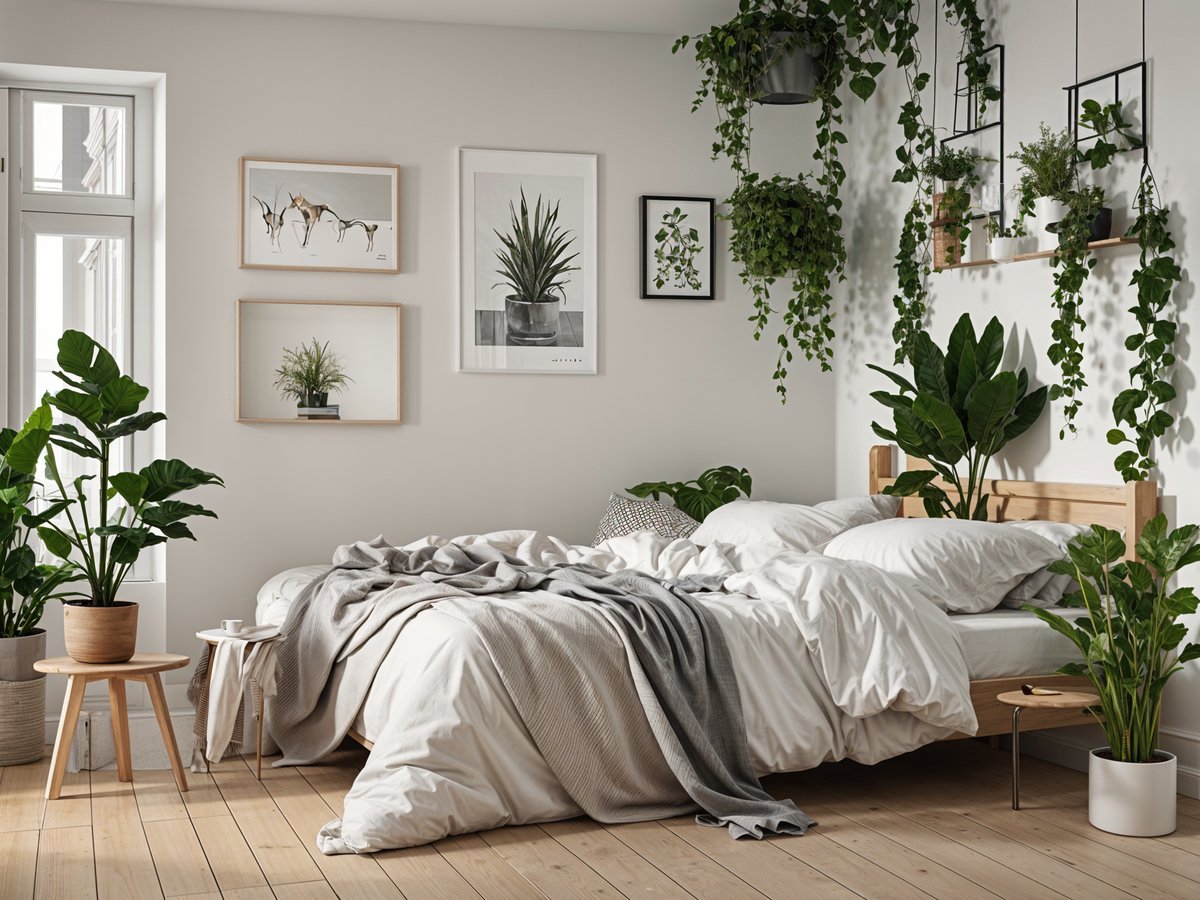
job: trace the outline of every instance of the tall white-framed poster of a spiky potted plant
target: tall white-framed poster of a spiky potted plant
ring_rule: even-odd
[[[461,372],[596,373],[596,157],[458,150]]]

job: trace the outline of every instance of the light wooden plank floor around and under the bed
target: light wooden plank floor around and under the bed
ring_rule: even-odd
[[[373,857],[325,857],[313,835],[362,764],[264,772],[241,761],[175,790],[169,772],[68,776],[48,760],[0,769],[0,898],[1200,898],[1200,802],[1178,830],[1130,839],[1087,824],[1084,775],[1026,758],[1009,808],[1008,755],[977,742],[876,767],[774,776],[820,821],[803,838],[733,841],[690,817],[499,828]]]

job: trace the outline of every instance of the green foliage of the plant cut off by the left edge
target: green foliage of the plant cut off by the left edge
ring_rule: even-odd
[[[38,511],[37,463],[50,439],[52,415],[41,406],[22,430],[0,428],[0,638],[37,628],[48,600],[74,577],[73,566],[37,562],[30,544],[38,526],[56,515]]]

